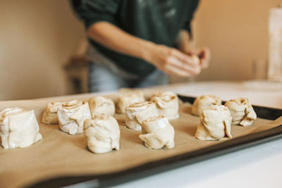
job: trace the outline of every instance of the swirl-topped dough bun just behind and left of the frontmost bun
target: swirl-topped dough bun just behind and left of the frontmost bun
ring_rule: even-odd
[[[58,118],[63,132],[81,134],[84,120],[91,119],[88,103],[78,100],[63,102],[58,108]]]

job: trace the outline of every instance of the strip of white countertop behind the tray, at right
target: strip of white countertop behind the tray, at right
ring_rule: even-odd
[[[171,85],[169,89],[188,96],[215,94],[225,101],[247,97],[255,105],[282,108],[282,82],[194,82]]]

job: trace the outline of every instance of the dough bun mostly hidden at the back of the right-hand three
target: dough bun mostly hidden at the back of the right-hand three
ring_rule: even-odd
[[[192,114],[200,116],[204,108],[207,108],[215,104],[221,104],[221,99],[219,98],[219,96],[214,96],[214,95],[198,96],[192,105]]]

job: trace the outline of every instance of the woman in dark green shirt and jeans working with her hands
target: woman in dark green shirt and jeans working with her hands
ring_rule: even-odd
[[[198,0],[73,0],[90,40],[90,92],[166,84],[209,65],[209,50],[190,50]],[[191,55],[200,58],[200,63]]]

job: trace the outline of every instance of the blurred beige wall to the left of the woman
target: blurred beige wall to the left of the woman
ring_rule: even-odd
[[[83,36],[67,0],[0,0],[0,100],[66,94],[63,63]]]

